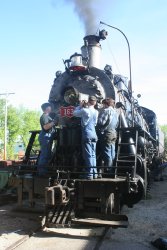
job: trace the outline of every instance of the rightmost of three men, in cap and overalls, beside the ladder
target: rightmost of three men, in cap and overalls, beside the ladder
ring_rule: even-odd
[[[113,173],[113,161],[115,159],[115,141],[117,138],[116,126],[118,123],[118,114],[115,110],[115,101],[112,98],[103,100],[103,109],[98,117],[98,137],[102,159],[104,161],[104,170]]]

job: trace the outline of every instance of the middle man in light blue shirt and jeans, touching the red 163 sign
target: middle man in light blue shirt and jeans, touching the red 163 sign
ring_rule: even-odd
[[[97,135],[95,126],[98,119],[98,111],[94,108],[97,99],[89,96],[88,102],[82,101],[80,106],[74,110],[74,116],[81,118],[82,127],[82,154],[86,165],[84,178],[93,179],[97,177],[96,170],[96,143]]]

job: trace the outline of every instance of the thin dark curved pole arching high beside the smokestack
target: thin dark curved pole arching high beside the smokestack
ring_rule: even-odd
[[[128,41],[128,38],[127,36],[124,34],[124,32],[120,29],[118,29],[117,27],[114,27],[112,25],[109,25],[107,23],[104,23],[104,22],[101,22],[100,21],[100,24],[103,24],[103,25],[106,25],[110,28],[113,28],[115,30],[118,30],[123,36],[124,38],[126,39],[126,42],[127,42],[127,45],[128,45],[128,57],[129,57],[129,87],[130,87],[130,94],[132,96],[132,69],[131,69],[131,52],[130,52],[130,44],[129,44],[129,41]]]

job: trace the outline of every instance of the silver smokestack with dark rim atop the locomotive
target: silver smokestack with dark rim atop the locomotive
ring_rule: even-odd
[[[105,40],[107,35],[107,31],[102,30],[99,32],[99,36],[84,37],[85,44],[81,47],[81,52],[84,58],[88,58],[89,67],[100,68],[102,50],[100,40]]]

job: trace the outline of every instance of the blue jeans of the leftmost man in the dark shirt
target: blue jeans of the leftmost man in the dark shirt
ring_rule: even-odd
[[[38,160],[38,173],[39,175],[43,175],[47,173],[46,165],[51,159],[52,139],[51,137],[46,136],[45,132],[41,131],[39,135],[39,143],[41,147],[41,153]]]

